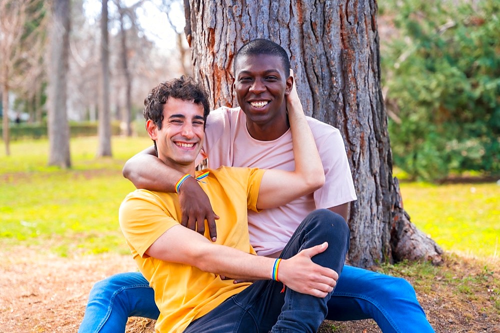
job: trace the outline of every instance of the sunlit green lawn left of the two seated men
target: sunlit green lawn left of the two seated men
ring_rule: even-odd
[[[148,138],[113,137],[113,157],[96,158],[97,139],[71,140],[73,167],[47,164],[46,140],[14,141],[0,154],[0,244],[40,245],[66,256],[128,253],[117,222],[118,206],[133,186],[121,176],[125,160]]]

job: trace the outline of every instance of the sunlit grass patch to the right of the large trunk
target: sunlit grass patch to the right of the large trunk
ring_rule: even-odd
[[[401,183],[411,221],[444,250],[498,258],[500,185]]]

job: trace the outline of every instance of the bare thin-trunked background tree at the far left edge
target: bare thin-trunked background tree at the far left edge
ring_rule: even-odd
[[[39,0],[0,0],[0,84],[2,90],[2,136],[10,154],[8,97],[12,89],[33,80],[43,50],[44,7]],[[36,26],[30,22],[36,21]],[[25,92],[25,90],[24,90]]]

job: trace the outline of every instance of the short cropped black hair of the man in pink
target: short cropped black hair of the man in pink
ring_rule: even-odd
[[[281,58],[281,63],[283,64],[286,77],[290,75],[290,58],[284,48],[275,42],[264,38],[250,40],[238,49],[234,57],[234,62],[232,63],[232,71],[234,72],[234,75],[236,75],[236,61],[241,55],[260,54],[275,55]]]

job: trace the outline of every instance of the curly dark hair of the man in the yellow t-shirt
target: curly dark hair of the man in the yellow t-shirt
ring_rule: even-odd
[[[163,106],[168,97],[181,100],[192,101],[195,104],[203,105],[203,120],[210,112],[208,97],[201,84],[192,77],[184,75],[174,78],[171,81],[161,82],[156,85],[144,98],[144,109],[142,114],[146,120],[151,119],[158,129],[161,129],[163,121]]]

